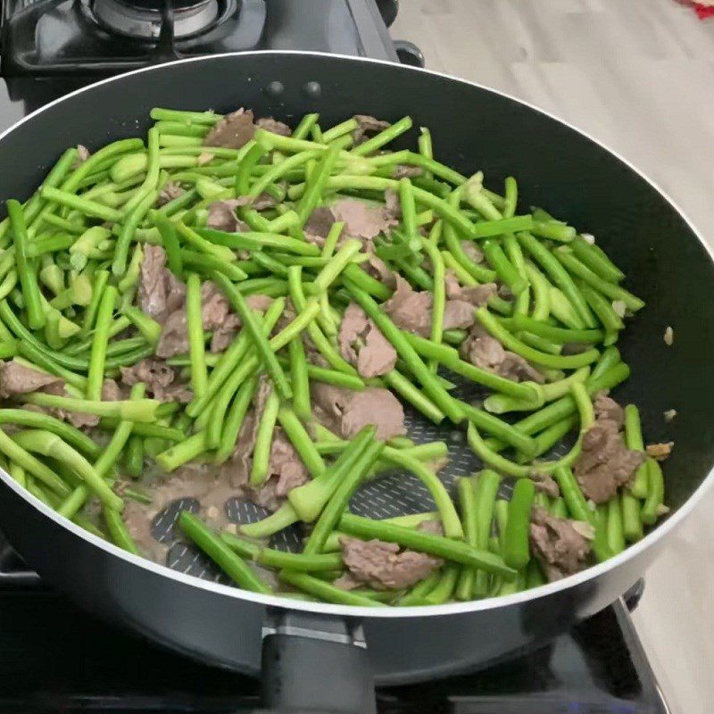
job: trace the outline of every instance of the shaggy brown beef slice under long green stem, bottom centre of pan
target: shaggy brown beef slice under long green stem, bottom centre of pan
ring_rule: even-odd
[[[414,585],[442,565],[427,553],[400,552],[399,545],[385,541],[340,538],[342,557],[357,584],[378,590],[403,590]]]

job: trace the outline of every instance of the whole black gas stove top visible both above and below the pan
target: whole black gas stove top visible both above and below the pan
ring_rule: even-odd
[[[396,0],[5,0],[0,130],[117,71],[194,54],[311,49],[396,61]],[[380,12],[382,13],[380,15]],[[388,22],[388,20],[387,20]],[[636,597],[631,598],[634,603]],[[0,541],[0,711],[248,712],[259,685],[119,632]],[[480,672],[380,688],[380,714],[666,714],[625,601]]]

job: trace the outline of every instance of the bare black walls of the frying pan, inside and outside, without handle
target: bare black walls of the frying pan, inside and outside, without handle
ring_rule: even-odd
[[[702,485],[714,461],[714,268],[680,213],[601,145],[508,97],[424,71],[315,54],[226,55],[112,79],[37,112],[0,140],[0,196],[29,196],[69,145],[95,149],[144,134],[153,106],[245,106],[288,122],[317,111],[322,126],[355,112],[391,120],[411,114],[415,127],[432,130],[444,163],[467,174],[485,170],[496,189],[516,176],[524,208],[543,206],[593,233],[648,303],[621,341],[634,369],[618,397],[641,407],[650,439],[676,442],[666,465],[669,504],[681,508]],[[668,325],[672,347],[662,340]],[[678,413],[671,424],[662,417],[668,409]],[[4,532],[49,582],[104,618],[203,661],[257,671],[264,605],[93,544],[0,476]],[[447,674],[554,635],[625,592],[665,541],[651,537],[577,585],[506,606],[367,619],[378,681],[434,677],[435,667]]]

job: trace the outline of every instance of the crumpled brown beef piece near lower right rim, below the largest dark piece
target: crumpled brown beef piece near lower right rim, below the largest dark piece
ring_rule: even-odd
[[[535,508],[530,524],[530,547],[550,581],[568,577],[587,566],[590,543],[577,521],[558,519]]]

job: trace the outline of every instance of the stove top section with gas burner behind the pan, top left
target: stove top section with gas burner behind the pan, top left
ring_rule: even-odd
[[[396,62],[400,46],[383,21],[396,6],[396,0],[4,0],[0,129],[102,77],[182,57],[302,49]]]

